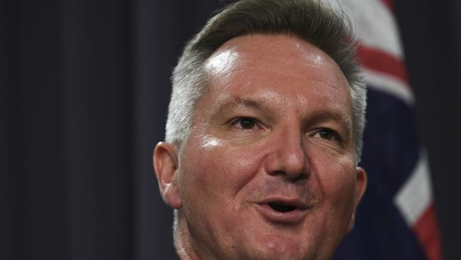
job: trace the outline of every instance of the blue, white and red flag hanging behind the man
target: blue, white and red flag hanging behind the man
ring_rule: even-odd
[[[352,20],[368,86],[362,162],[368,187],[335,260],[440,260],[428,159],[389,0],[330,0]],[[339,3],[338,3],[339,2]]]

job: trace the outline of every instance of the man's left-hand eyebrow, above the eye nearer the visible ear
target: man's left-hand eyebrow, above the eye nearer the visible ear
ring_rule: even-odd
[[[216,118],[221,114],[236,108],[249,108],[260,111],[264,114],[274,114],[274,109],[267,107],[263,102],[247,97],[231,97],[228,101],[218,105],[216,109],[211,112],[211,118]]]

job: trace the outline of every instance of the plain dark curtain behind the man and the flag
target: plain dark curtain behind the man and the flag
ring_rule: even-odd
[[[152,148],[182,45],[223,1],[0,3],[0,259],[174,259]],[[444,259],[461,259],[461,4],[394,5]]]

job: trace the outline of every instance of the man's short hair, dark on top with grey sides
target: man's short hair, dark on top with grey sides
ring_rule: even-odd
[[[243,0],[213,16],[187,43],[172,73],[166,141],[181,149],[187,140],[196,102],[206,87],[203,70],[206,60],[226,41],[256,33],[301,38],[335,60],[350,85],[352,138],[358,163],[362,154],[367,92],[355,60],[352,26],[344,13],[313,0]]]

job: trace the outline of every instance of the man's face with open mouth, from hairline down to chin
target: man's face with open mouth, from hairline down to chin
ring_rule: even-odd
[[[366,182],[343,73],[303,40],[263,35],[229,40],[205,70],[174,177],[195,254],[331,258]]]

